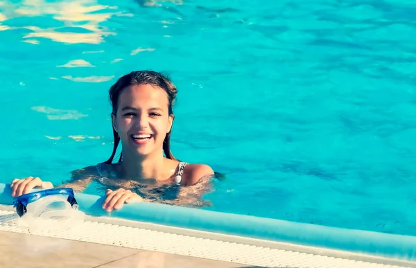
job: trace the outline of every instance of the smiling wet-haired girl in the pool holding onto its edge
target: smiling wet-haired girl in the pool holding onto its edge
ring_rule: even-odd
[[[214,171],[205,164],[178,161],[170,150],[176,93],[171,80],[155,71],[133,71],[119,78],[110,88],[114,134],[111,157],[96,166],[73,171],[63,187],[83,191],[93,180],[99,181],[107,186],[103,203],[106,211],[143,199],[151,202],[157,199],[155,193],[178,190],[179,186],[206,187],[204,182]],[[112,163],[120,142],[121,156],[118,163]],[[30,193],[35,187],[53,188],[51,182],[39,177],[14,179],[10,186],[14,197]],[[201,189],[191,190],[198,195]],[[189,190],[180,191],[180,196],[188,194]]]

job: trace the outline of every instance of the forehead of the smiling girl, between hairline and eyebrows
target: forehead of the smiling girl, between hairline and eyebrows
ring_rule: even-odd
[[[168,105],[168,94],[164,89],[151,84],[135,84],[126,87],[119,96],[119,108],[132,107],[161,107]]]

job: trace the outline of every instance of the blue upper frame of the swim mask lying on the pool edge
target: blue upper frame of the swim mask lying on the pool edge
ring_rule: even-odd
[[[67,201],[71,204],[73,209],[78,209],[78,203],[76,202],[75,195],[73,194],[73,190],[71,188],[52,188],[46,190],[40,190],[33,193],[27,193],[25,195],[20,195],[19,197],[15,197],[13,201],[13,207],[16,208],[16,213],[19,217],[25,215],[27,211],[28,204],[35,202],[42,197],[46,197],[48,195],[68,195]]]

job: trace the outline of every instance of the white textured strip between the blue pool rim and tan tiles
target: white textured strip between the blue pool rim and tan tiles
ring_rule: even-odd
[[[173,253],[261,267],[416,267],[395,260],[320,247],[273,242],[114,217],[86,216],[71,230],[31,231],[19,226],[12,206],[0,205],[0,231],[44,235],[117,247]]]

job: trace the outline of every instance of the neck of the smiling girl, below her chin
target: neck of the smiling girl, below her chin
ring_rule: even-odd
[[[126,178],[161,179],[163,162],[163,154],[159,152],[149,154],[146,157],[123,152],[121,169]]]

